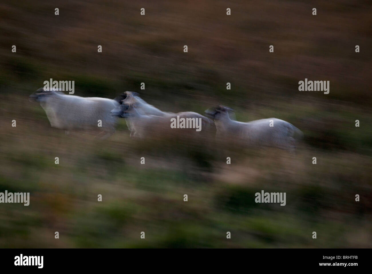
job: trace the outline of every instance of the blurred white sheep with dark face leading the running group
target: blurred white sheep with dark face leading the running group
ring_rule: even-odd
[[[102,138],[115,132],[116,118],[110,111],[119,105],[120,99],[80,97],[45,88],[39,88],[29,97],[30,101],[40,103],[52,127],[64,129],[66,133],[75,129],[101,129],[106,132]]]

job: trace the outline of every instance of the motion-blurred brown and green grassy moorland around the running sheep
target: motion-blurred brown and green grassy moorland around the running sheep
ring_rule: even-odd
[[[0,192],[31,198],[0,204],[0,247],[371,248],[371,2],[302,2],[3,1]],[[154,144],[124,119],[104,141],[65,136],[28,101],[49,78],[86,97],[140,92],[163,111],[224,104],[305,138],[294,155]],[[330,93],[298,91],[305,78]],[[261,190],[286,206],[256,204]]]

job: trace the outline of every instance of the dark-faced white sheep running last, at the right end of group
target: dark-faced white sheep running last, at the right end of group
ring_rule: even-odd
[[[286,121],[268,118],[247,123],[231,120],[231,108],[218,106],[205,111],[206,116],[214,119],[216,138],[234,140],[250,146],[270,146],[288,150],[295,148],[295,136],[303,136],[301,130]]]

